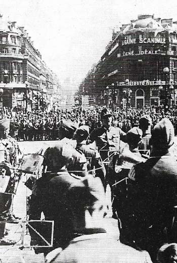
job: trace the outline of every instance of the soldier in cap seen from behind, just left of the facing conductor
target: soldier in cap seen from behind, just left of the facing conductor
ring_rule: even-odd
[[[95,173],[96,177],[100,177],[103,185],[105,185],[106,170],[101,156],[95,149],[93,144],[86,144],[87,140],[89,139],[89,129],[89,126],[81,125],[76,130],[76,149],[81,151],[85,155],[86,159],[89,161],[88,170],[92,170],[92,174]]]

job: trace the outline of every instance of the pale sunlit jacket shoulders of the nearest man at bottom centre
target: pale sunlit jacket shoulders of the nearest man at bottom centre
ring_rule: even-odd
[[[50,262],[152,263],[147,251],[138,251],[121,244],[104,231],[91,232],[90,235],[83,235],[73,239],[66,249],[56,253],[53,259],[47,261],[47,263]]]

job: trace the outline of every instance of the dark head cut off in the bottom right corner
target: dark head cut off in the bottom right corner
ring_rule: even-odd
[[[157,253],[157,263],[176,263],[177,262],[177,244],[165,244]]]

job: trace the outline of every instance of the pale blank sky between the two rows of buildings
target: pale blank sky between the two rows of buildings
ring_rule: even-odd
[[[79,82],[104,53],[113,27],[138,14],[177,20],[177,0],[0,0],[0,13],[25,27],[61,80]]]

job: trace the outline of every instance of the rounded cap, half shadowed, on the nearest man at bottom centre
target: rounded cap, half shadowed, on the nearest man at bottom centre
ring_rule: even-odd
[[[104,208],[106,202],[104,187],[98,177],[84,177],[76,181],[69,188],[67,198],[72,209],[81,210]]]

